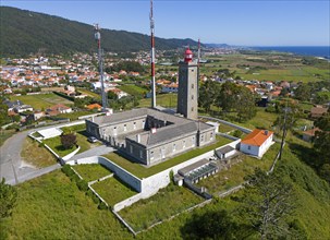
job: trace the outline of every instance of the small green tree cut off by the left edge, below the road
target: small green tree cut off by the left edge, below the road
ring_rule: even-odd
[[[0,220],[12,215],[15,206],[17,191],[14,187],[7,184],[4,178],[0,182]]]

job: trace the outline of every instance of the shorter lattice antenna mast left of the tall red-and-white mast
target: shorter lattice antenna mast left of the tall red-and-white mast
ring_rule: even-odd
[[[95,40],[97,41],[97,49],[98,49],[98,65],[99,65],[99,74],[100,74],[100,82],[101,82],[101,96],[102,96],[102,111],[106,112],[108,108],[108,99],[105,89],[105,80],[103,80],[103,58],[102,58],[102,49],[101,49],[101,34],[98,24],[94,25],[94,36]]]

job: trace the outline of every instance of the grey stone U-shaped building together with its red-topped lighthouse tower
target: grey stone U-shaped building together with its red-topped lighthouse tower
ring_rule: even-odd
[[[179,64],[178,113],[140,108],[86,120],[87,132],[138,163],[155,165],[216,140],[216,127],[197,120],[197,65],[192,51]]]

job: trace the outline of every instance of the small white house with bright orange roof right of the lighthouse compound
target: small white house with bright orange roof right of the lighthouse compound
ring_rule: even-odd
[[[271,131],[255,129],[242,140],[240,151],[248,155],[262,157],[272,144],[272,136],[273,132]]]

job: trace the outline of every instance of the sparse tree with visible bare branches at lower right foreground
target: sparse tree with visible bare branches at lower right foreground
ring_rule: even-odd
[[[243,217],[261,239],[279,239],[289,235],[286,217],[293,213],[292,185],[276,172],[256,169],[245,178],[247,183],[241,199]]]

